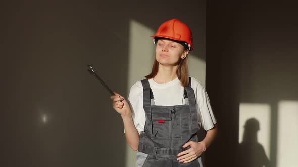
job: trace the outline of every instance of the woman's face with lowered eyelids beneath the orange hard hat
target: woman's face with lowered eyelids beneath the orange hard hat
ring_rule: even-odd
[[[174,41],[159,39],[155,48],[155,58],[157,62],[165,66],[175,66],[181,58],[185,58],[188,50]]]

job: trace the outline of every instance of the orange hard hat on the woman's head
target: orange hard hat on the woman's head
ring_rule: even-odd
[[[190,51],[193,50],[192,43],[192,32],[190,28],[178,19],[171,19],[162,23],[157,29],[153,37],[154,43],[156,43],[157,38],[168,38],[175,41],[179,41]]]

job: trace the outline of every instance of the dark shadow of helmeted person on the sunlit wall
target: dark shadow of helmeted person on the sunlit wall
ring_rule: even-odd
[[[270,161],[263,146],[258,143],[259,121],[250,118],[245,122],[243,141],[239,145],[240,166],[242,167],[269,167]]]

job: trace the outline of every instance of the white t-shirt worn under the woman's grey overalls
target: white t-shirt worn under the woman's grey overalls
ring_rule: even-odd
[[[178,78],[164,83],[158,84],[153,79],[148,79],[152,93],[154,95],[155,105],[174,106],[183,105],[184,102],[184,87],[180,84]],[[191,77],[191,88],[194,90],[197,104],[198,117],[205,130],[212,129],[216,124],[216,119],[210,106],[210,101],[206,90],[202,84]],[[128,96],[134,126],[138,133],[144,131],[146,116],[143,108],[143,86],[141,81],[137,81],[131,88]]]

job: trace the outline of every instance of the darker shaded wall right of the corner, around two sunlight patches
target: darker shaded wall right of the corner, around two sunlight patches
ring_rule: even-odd
[[[239,156],[240,103],[271,106],[270,157],[276,166],[277,103],[298,100],[297,16],[289,1],[208,1],[206,86],[219,121],[219,135],[207,151],[209,167],[258,163]]]

